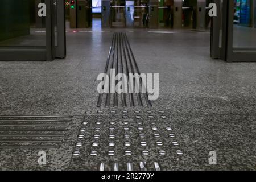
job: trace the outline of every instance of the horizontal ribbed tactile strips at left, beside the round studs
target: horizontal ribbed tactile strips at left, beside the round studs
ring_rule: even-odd
[[[59,148],[69,116],[0,116],[0,148]]]

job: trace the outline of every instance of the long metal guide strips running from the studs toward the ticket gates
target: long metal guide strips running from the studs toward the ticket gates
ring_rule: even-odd
[[[129,40],[124,32],[114,32],[113,38],[112,38],[112,44],[109,49],[108,58],[106,61],[106,67],[104,73],[107,74],[109,77],[111,75],[110,70],[115,69],[115,77],[119,73],[123,73],[126,76],[129,75],[129,73],[138,73],[139,72],[138,64],[135,59],[134,53],[131,49]],[[134,79],[135,80],[135,79]],[[129,90],[130,87],[134,88],[134,85],[130,85],[129,77],[127,77],[127,90]],[[135,80],[136,82],[136,80]],[[133,81],[134,83],[134,81]],[[110,80],[109,80],[109,90],[110,90]],[[115,81],[115,85],[117,85],[118,82]],[[144,83],[140,79],[139,83],[136,83],[139,86],[144,86]],[[105,86],[105,85],[104,85]],[[104,88],[104,87],[103,87]],[[130,107],[135,107],[135,99],[134,95],[136,96],[136,100],[138,102],[139,107],[143,107],[145,104],[148,107],[152,107],[152,104],[150,100],[148,99],[147,93],[121,93],[118,94],[116,91],[114,94],[111,93],[104,93],[106,96],[105,99],[105,107],[110,107],[110,103],[113,98],[113,107],[127,107],[127,100],[130,101]],[[102,101],[104,98],[104,94],[99,94],[98,96],[98,102],[97,107],[102,106]],[[144,96],[145,103],[143,103],[142,96]],[[119,101],[119,98],[121,98],[121,102]]]

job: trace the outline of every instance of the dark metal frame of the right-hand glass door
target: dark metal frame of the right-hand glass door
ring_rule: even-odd
[[[223,0],[222,7],[221,0],[213,0],[213,2],[217,5],[217,17],[212,18],[210,57],[212,57],[212,59],[222,59],[228,62],[256,61],[256,48],[233,48],[234,1]]]

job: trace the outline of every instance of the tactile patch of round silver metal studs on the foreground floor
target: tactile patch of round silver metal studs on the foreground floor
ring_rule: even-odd
[[[71,169],[170,170],[183,151],[165,111],[87,111]]]

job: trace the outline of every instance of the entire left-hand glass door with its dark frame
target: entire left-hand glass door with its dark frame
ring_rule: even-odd
[[[64,9],[61,0],[2,0],[0,61],[52,61],[65,57],[62,4]]]

